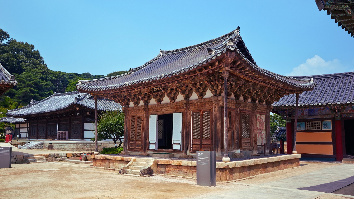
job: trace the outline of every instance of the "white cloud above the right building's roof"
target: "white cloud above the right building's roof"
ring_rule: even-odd
[[[315,55],[306,60],[306,63],[292,69],[286,76],[308,76],[308,75],[322,75],[331,73],[342,73],[346,71],[346,66],[343,66],[338,59],[333,61],[325,61],[320,56]]]

